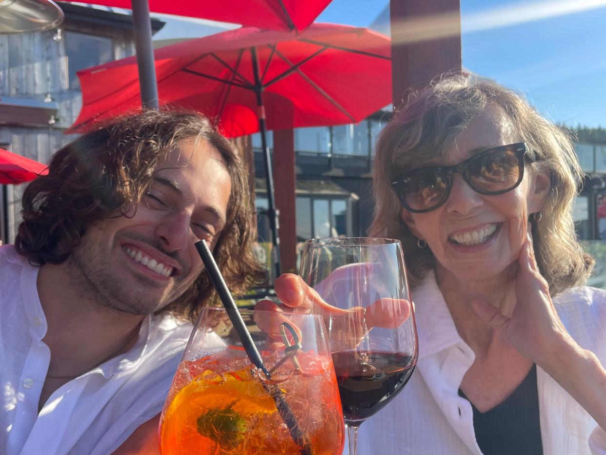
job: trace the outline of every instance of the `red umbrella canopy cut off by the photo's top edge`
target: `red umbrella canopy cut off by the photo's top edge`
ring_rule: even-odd
[[[149,0],[150,12],[250,25],[267,30],[304,30],[331,0]],[[87,3],[131,8],[131,0]]]

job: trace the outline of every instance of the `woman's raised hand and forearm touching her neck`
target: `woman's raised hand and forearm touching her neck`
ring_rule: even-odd
[[[530,235],[519,257],[516,299],[510,318],[484,300],[472,305],[505,342],[544,369],[606,430],[606,370],[562,325],[536,265]]]

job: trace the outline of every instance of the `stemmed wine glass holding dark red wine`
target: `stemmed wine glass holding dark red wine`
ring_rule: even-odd
[[[335,364],[349,453],[358,427],[398,394],[415,369],[415,314],[399,240],[319,238],[305,241],[299,275],[335,309],[323,314]]]

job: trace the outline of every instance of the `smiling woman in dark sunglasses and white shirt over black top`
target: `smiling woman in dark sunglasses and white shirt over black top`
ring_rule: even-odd
[[[606,453],[606,292],[584,287],[581,181],[567,136],[484,79],[445,76],[382,130],[370,235],[404,246],[419,361],[360,453]],[[276,281],[287,305],[313,299],[301,281]]]

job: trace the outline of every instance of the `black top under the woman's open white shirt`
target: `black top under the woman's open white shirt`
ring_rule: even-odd
[[[459,396],[467,399],[459,389]],[[542,455],[536,365],[513,393],[485,413],[473,408],[476,441],[484,455]]]

